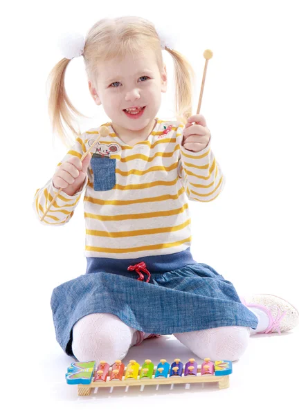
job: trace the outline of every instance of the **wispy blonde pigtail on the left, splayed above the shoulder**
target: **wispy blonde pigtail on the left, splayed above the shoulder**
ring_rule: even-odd
[[[53,134],[57,133],[66,147],[72,147],[73,140],[71,140],[66,133],[62,120],[65,122],[67,127],[71,129],[74,136],[78,137],[80,135],[80,127],[78,124],[77,127],[74,127],[74,115],[87,118],[75,109],[75,107],[73,107],[73,104],[66,94],[64,76],[69,62],[71,62],[71,60],[66,58],[63,58],[60,62],[58,62],[48,75],[47,81],[50,82],[48,114],[51,118]]]

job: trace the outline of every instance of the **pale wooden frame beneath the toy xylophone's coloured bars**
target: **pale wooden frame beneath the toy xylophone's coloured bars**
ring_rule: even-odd
[[[185,365],[183,366],[183,369],[185,369]],[[97,382],[91,382],[89,385],[83,385],[82,383],[78,384],[78,395],[79,396],[88,396],[91,394],[91,389],[96,387],[124,387],[124,386],[142,386],[142,385],[172,385],[177,383],[208,383],[208,382],[218,382],[219,389],[226,389],[229,387],[229,375],[224,376],[215,376],[215,375],[201,375],[201,365],[197,367],[197,376],[194,375],[188,375],[182,376],[179,375],[173,375],[173,376],[167,376],[167,378],[164,378],[164,376],[159,376],[158,378],[127,378],[123,380],[111,380],[110,381],[110,375],[111,375],[111,367],[109,368],[107,381],[104,380],[98,380]],[[124,373],[127,370],[127,367],[125,367]],[[138,376],[140,376],[142,367],[138,370]],[[154,368],[153,376],[156,374],[156,368]],[[94,376],[93,376],[94,378]],[[125,376],[123,376],[125,378]]]

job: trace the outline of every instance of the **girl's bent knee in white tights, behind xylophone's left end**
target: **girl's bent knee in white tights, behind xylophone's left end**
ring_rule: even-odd
[[[117,315],[93,313],[73,326],[73,355],[79,362],[105,360],[112,365],[123,360],[137,341],[136,329],[127,326]]]

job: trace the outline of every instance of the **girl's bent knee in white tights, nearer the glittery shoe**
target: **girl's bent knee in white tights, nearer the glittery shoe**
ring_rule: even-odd
[[[250,328],[243,326],[215,327],[213,329],[173,333],[199,358],[238,360],[248,346]]]

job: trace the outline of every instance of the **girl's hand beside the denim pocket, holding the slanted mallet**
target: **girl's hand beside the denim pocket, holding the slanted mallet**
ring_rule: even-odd
[[[87,154],[83,161],[78,157],[71,157],[64,161],[53,176],[53,186],[73,196],[80,190],[87,175],[87,168],[91,160],[91,153]]]

